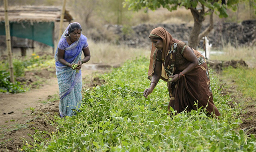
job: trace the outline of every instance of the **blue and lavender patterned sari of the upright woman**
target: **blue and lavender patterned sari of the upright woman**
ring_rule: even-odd
[[[72,23],[71,23],[72,24]],[[70,25],[69,25],[70,26]],[[58,43],[58,48],[65,51],[64,59],[70,64],[77,64],[81,59],[82,49],[88,47],[87,38],[81,34],[79,40],[68,44],[65,34],[68,28],[62,34]],[[58,48],[55,53],[56,75],[60,91],[59,111],[60,116],[73,116],[78,111],[82,101],[82,75],[81,70],[76,72],[58,61]]]

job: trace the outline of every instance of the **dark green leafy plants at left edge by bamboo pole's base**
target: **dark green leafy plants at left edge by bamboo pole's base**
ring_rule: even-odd
[[[0,70],[0,92],[10,92],[19,93],[25,92],[20,82],[15,81],[15,83],[10,82],[10,73],[5,70]]]

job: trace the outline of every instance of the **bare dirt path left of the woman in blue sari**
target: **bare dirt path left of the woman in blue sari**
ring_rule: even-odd
[[[0,94],[0,125],[24,122],[25,115],[30,114],[34,108],[42,106],[48,96],[56,93],[58,93],[57,78],[50,78],[40,89],[32,89],[20,94]]]

